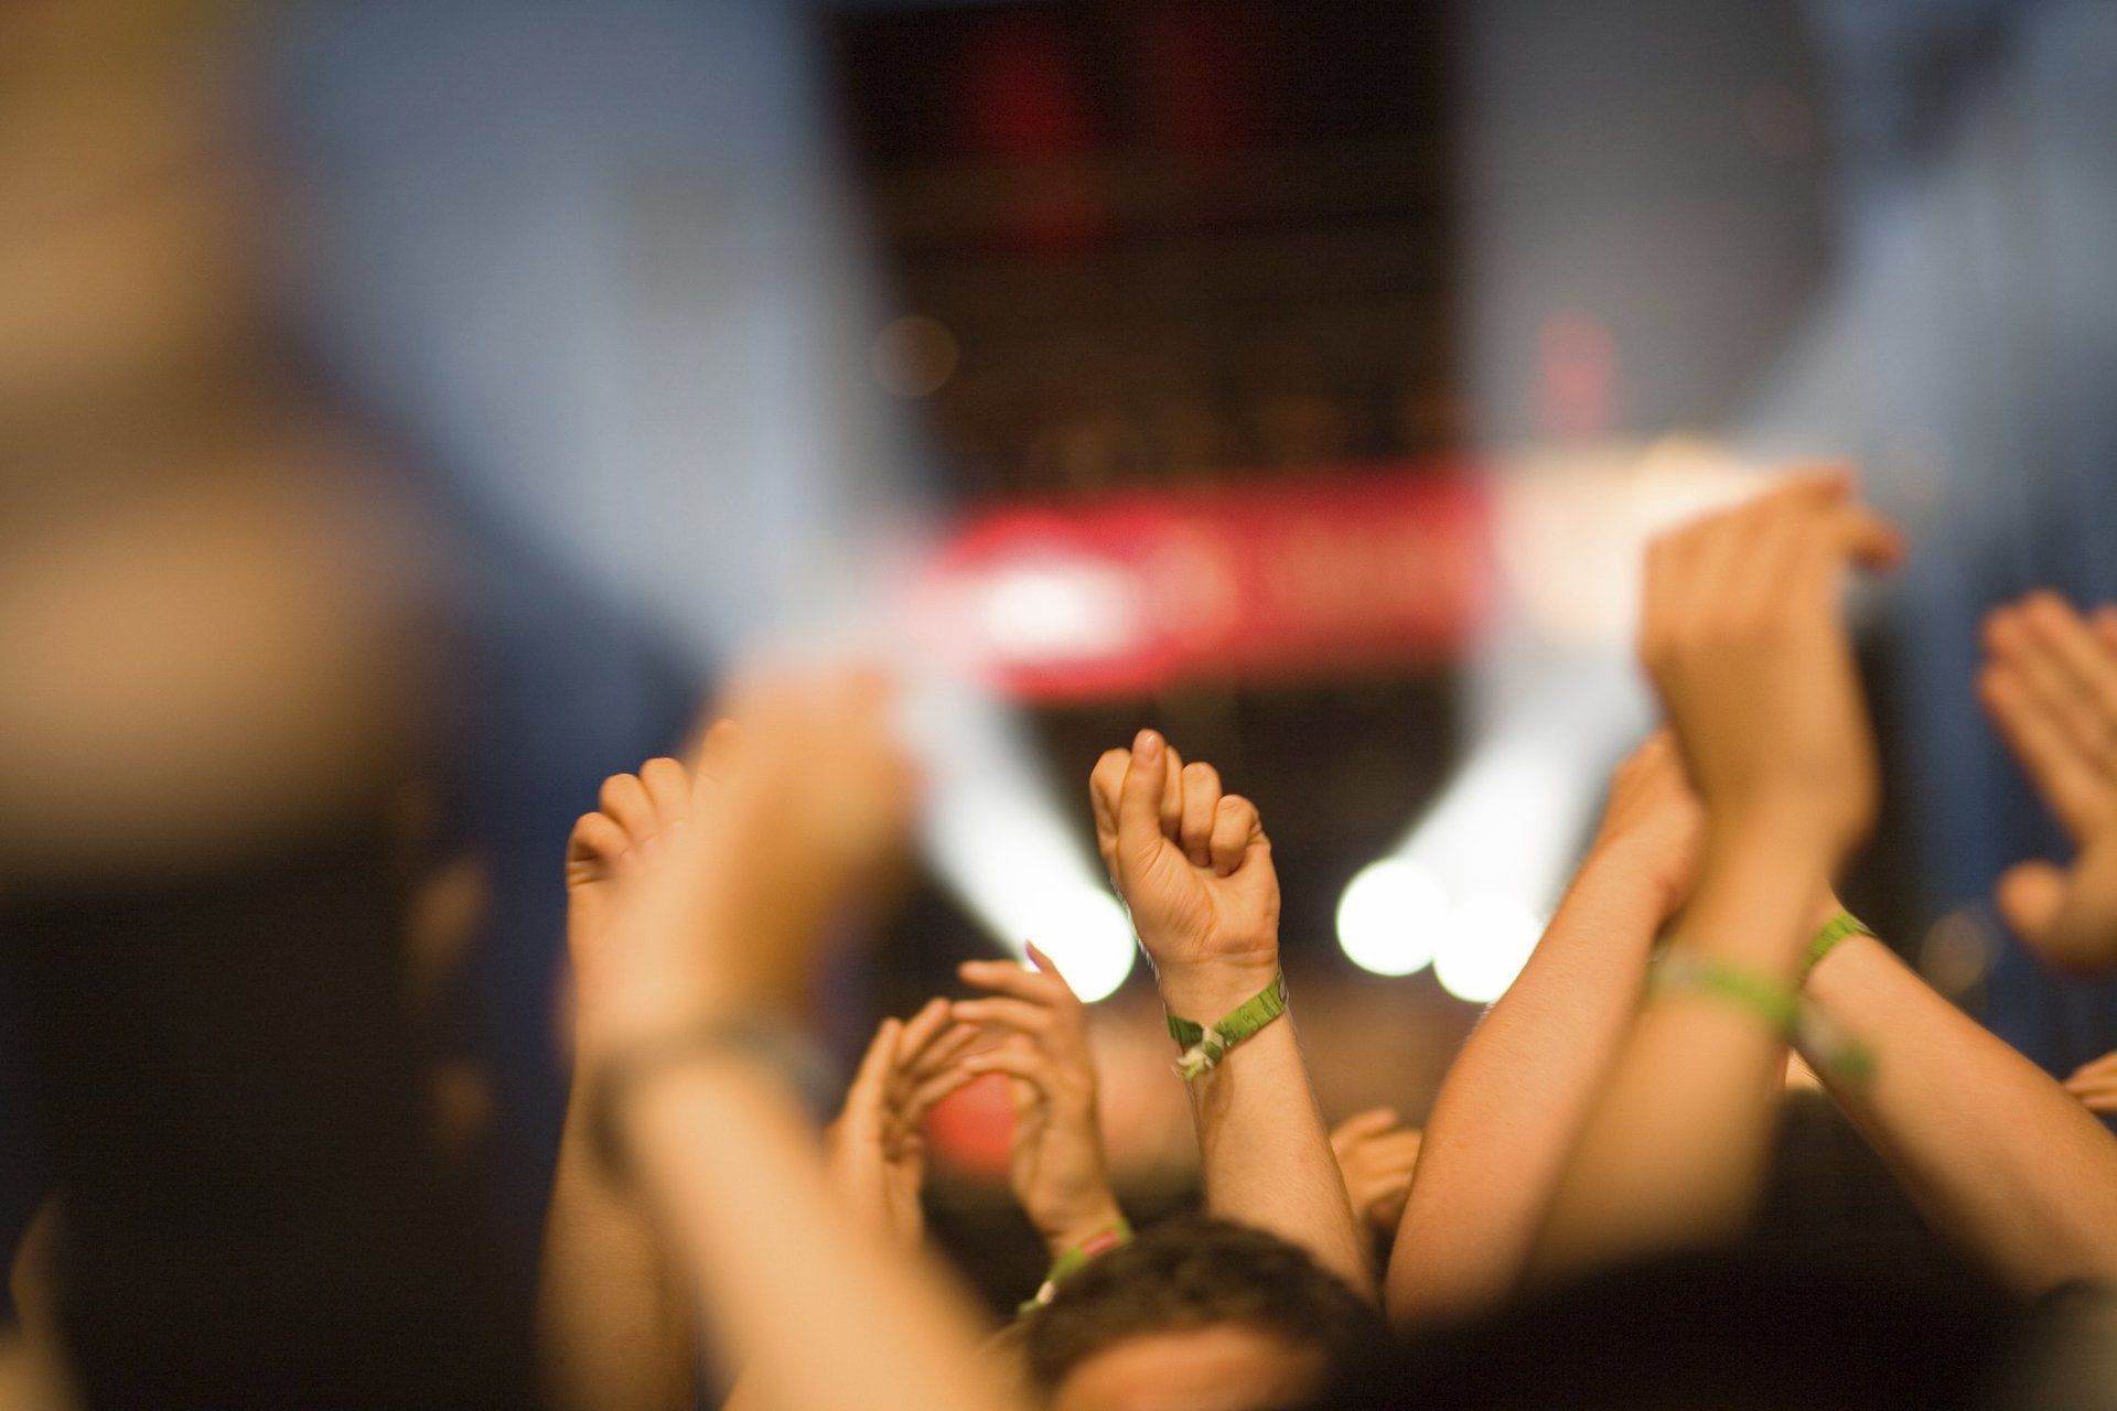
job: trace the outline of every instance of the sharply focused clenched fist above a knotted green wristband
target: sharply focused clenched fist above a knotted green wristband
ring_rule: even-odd
[[[1162,1001],[1211,1024],[1279,969],[1279,876],[1257,808],[1222,793],[1154,730],[1111,749],[1088,781],[1094,833]]]

